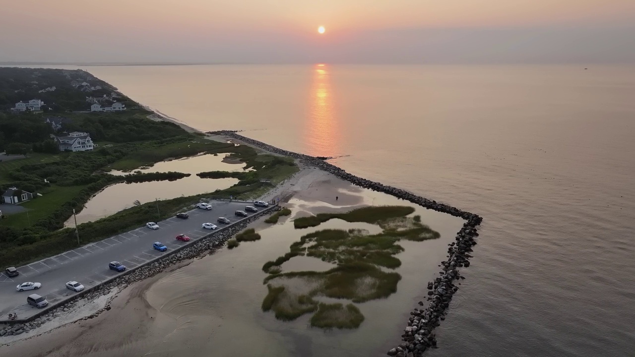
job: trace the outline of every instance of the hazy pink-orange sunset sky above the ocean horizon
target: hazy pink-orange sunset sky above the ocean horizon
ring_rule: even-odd
[[[0,61],[635,62],[633,24],[634,0],[0,0]]]

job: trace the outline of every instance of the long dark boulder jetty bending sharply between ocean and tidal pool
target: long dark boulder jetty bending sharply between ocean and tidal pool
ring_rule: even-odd
[[[211,135],[224,135],[225,137],[236,138],[246,144],[260,147],[266,151],[299,159],[307,165],[315,166],[321,170],[330,172],[354,185],[371,189],[373,191],[384,192],[397,198],[424,206],[425,208],[430,208],[431,210],[448,213],[465,219],[466,222],[457,233],[456,241],[450,243],[450,247],[448,248],[448,260],[441,262],[443,271],[439,273],[439,276],[434,281],[430,281],[427,284],[427,306],[422,301],[418,302],[420,306],[425,307],[422,309],[415,308],[414,311],[411,311],[411,317],[408,319],[407,327],[405,328],[403,335],[401,335],[404,342],[388,351],[387,354],[389,356],[398,357],[421,356],[427,348],[436,348],[437,342],[434,335],[434,328],[439,326],[440,321],[445,320],[445,315],[448,307],[450,306],[452,295],[458,290],[458,286],[455,285],[454,282],[464,279],[463,276],[460,276],[458,268],[470,266],[469,258],[472,256],[469,255],[469,253],[472,252],[472,246],[476,245],[474,238],[479,235],[477,227],[483,220],[479,217],[479,215],[465,212],[443,203],[431,201],[430,199],[422,198],[396,187],[362,179],[361,177],[347,173],[341,168],[324,161],[324,159],[328,158],[314,158],[313,156],[278,149],[277,147],[259,142],[258,140],[243,137],[243,135],[239,135],[237,131],[222,130],[210,131],[208,133]]]

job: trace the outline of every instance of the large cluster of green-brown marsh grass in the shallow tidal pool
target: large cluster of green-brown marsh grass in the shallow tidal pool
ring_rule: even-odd
[[[378,234],[363,229],[322,229],[300,237],[290,252],[266,262],[262,270],[269,293],[264,311],[276,318],[292,320],[302,314],[315,314],[311,325],[320,328],[356,328],[364,316],[354,304],[385,299],[397,291],[401,276],[391,271],[401,266],[395,255],[403,252],[401,239],[423,241],[439,238],[439,233],[421,223],[420,216],[410,217],[410,206],[370,206],[345,213],[320,213],[316,220],[304,220],[300,227],[319,226],[329,219],[365,222],[382,228]],[[295,220],[294,226],[298,219]],[[333,264],[327,271],[284,272],[284,262],[293,257],[316,257]],[[300,286],[300,288],[298,288]],[[298,291],[299,289],[299,291]],[[345,299],[353,304],[323,304],[319,297]],[[301,299],[301,300],[300,300]],[[265,307],[267,309],[265,309]]]

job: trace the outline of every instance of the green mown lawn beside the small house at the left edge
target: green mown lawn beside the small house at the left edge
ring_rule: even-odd
[[[37,198],[31,199],[28,202],[22,203],[21,206],[27,208],[29,212],[7,215],[7,219],[3,220],[2,224],[16,228],[29,227],[37,222],[38,219],[46,217],[53,211],[57,210],[57,208],[59,208],[62,203],[73,199],[79,193],[79,191],[84,189],[86,186],[88,185],[52,185],[49,189],[43,191],[41,197],[38,196]]]

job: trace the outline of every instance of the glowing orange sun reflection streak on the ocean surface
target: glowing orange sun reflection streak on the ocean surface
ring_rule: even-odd
[[[328,66],[317,64],[313,68],[309,112],[307,114],[305,144],[307,154],[335,156],[340,154],[340,127],[333,102]]]

